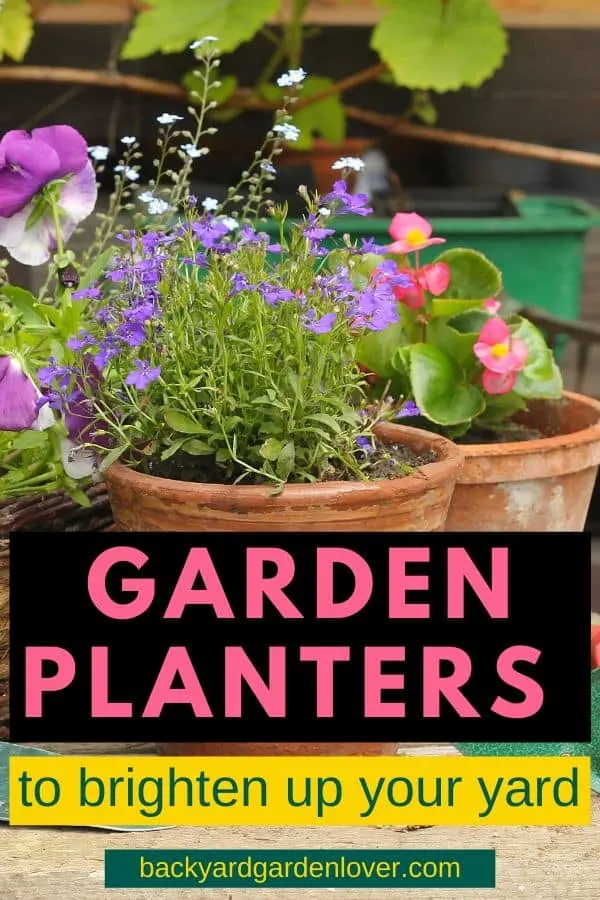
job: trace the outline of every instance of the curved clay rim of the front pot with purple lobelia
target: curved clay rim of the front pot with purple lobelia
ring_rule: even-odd
[[[273,486],[269,484],[215,484],[195,481],[177,481],[174,478],[162,478],[157,475],[146,475],[136,469],[114,462],[105,472],[105,478],[110,483],[111,479],[118,479],[121,484],[134,487],[140,492],[144,489],[153,493],[158,488],[165,493],[177,493],[201,495],[203,501],[223,503],[224,495],[229,502],[235,503],[236,509],[242,509],[246,503],[254,507],[257,498],[264,497],[265,501],[285,498],[286,502],[300,501],[306,503],[311,494],[315,501],[327,501],[346,495],[347,505],[351,505],[352,497],[357,502],[364,502],[365,494],[374,495],[374,499],[384,499],[390,496],[410,496],[423,493],[425,489],[434,484],[446,480],[455,480],[460,473],[464,456],[462,448],[454,444],[448,438],[438,434],[424,431],[420,428],[410,428],[408,425],[396,425],[382,423],[376,427],[376,432],[390,443],[403,443],[415,452],[423,452],[428,447],[435,450],[439,458],[432,463],[421,466],[413,475],[403,478],[381,479],[378,481],[324,481],[316,484],[288,484],[284,491],[273,497]],[[151,485],[154,485],[152,488]]]

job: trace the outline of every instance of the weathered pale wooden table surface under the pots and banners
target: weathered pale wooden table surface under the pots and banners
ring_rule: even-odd
[[[56,749],[56,746],[48,749]],[[61,745],[70,753],[152,752],[151,745]],[[455,753],[448,745],[404,745],[408,755]],[[105,849],[490,849],[497,854],[496,890],[419,889],[415,900],[598,900],[600,797],[589,828],[175,828],[108,833],[75,828],[0,831],[2,900],[191,900],[189,890],[118,890],[105,894]],[[405,890],[204,890],[201,900],[406,900]]]

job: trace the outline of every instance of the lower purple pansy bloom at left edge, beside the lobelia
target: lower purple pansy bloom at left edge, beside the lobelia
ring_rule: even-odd
[[[0,356],[0,431],[45,431],[55,423],[47,403],[18,360]]]

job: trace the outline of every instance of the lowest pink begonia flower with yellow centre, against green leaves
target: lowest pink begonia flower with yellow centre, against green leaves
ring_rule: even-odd
[[[525,342],[511,338],[506,322],[496,317],[481,329],[473,352],[484,366],[481,382],[488,394],[508,394],[527,361]]]

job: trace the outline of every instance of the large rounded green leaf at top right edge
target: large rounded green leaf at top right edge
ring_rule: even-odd
[[[491,0],[394,0],[371,47],[398,84],[443,93],[493,75],[508,37]]]

